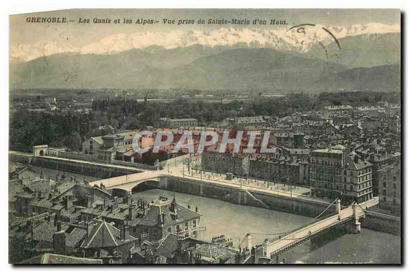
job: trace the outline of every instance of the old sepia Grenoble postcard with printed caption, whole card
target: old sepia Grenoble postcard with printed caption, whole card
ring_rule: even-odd
[[[9,20],[9,263],[402,263],[400,10]]]

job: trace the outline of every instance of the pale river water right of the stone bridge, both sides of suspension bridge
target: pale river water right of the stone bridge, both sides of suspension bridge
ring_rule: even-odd
[[[173,196],[173,192],[150,189],[134,193],[134,198],[155,199],[160,194]],[[210,241],[224,234],[237,246],[247,233],[253,244],[262,242],[264,233],[280,233],[296,229],[312,218],[256,207],[240,206],[207,197],[176,192],[176,201],[184,206],[196,205],[203,214],[199,238]],[[263,233],[263,234],[257,234]],[[325,240],[325,241],[323,241]],[[306,242],[285,254],[286,263],[400,263],[400,237],[388,233],[362,229],[360,234],[321,239],[319,243]]]

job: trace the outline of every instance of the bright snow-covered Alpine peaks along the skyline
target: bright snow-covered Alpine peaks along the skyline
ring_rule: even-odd
[[[304,28],[304,29],[301,29]],[[400,25],[381,23],[355,24],[349,28],[339,26],[302,26],[289,28],[249,29],[249,28],[220,28],[216,30],[173,30],[173,31],[139,31],[131,34],[115,34],[107,36],[97,42],[82,47],[75,47],[66,43],[53,41],[36,42],[32,44],[18,44],[10,46],[10,58],[29,61],[38,57],[58,53],[77,54],[115,54],[133,48],[146,48],[151,45],[162,46],[167,49],[186,47],[193,44],[213,47],[216,45],[233,46],[237,43],[257,43],[260,47],[275,48],[277,50],[291,50],[308,52],[316,43],[329,43],[333,37],[337,39],[347,36],[374,33],[399,33]]]

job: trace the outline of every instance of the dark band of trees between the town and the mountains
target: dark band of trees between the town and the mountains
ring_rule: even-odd
[[[80,151],[86,137],[110,133],[100,130],[110,125],[115,131],[157,125],[160,117],[195,118],[199,126],[212,126],[228,117],[268,115],[283,117],[294,112],[321,110],[327,105],[374,105],[400,102],[400,94],[385,92],[291,93],[278,98],[259,96],[226,102],[178,98],[169,102],[136,101],[124,98],[94,100],[90,113],[74,111],[10,112],[9,148],[30,152],[36,144],[66,147]]]

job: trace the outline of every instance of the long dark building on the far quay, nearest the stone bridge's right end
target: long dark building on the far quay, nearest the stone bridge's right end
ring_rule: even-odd
[[[201,167],[206,171],[232,172],[236,176],[243,177],[248,175],[248,166],[249,156],[243,154],[205,151],[201,155]]]

